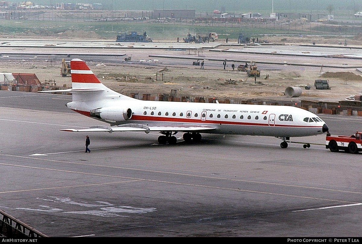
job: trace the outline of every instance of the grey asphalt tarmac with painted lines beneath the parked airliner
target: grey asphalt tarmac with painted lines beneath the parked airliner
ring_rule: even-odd
[[[355,237],[362,226],[361,155],[325,136],[84,133],[101,125],[64,106],[69,95],[0,92],[0,209],[48,236]],[[319,115],[332,134],[357,116]],[[319,144],[319,145],[316,145]]]

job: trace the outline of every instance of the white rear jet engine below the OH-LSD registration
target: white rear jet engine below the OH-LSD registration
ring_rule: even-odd
[[[132,117],[130,108],[105,107],[90,110],[90,117],[103,119],[107,121],[125,121]]]

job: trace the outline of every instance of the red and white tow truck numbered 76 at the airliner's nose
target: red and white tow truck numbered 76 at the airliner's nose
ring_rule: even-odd
[[[356,132],[352,136],[331,136],[327,134],[325,138],[325,148],[331,152],[338,152],[344,150],[349,153],[358,153],[362,151],[362,132]]]

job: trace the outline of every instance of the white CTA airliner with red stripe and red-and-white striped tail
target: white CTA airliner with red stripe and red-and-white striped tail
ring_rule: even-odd
[[[174,134],[183,132],[185,141],[200,141],[200,133],[274,136],[286,148],[290,137],[328,132],[317,115],[297,107],[144,101],[119,94],[103,85],[83,60],[70,62],[72,88],[45,92],[72,93],[67,107],[82,115],[109,123],[71,132],[160,132],[159,144],[176,144]],[[309,147],[309,144],[304,145]]]

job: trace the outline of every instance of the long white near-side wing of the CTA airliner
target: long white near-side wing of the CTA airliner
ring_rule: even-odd
[[[146,126],[142,124],[124,124],[115,127],[109,126],[94,126],[87,129],[61,129],[62,131],[70,132],[115,132],[115,131],[144,131],[150,133],[150,131],[172,131],[172,132],[208,132],[216,129],[210,126],[195,126],[195,125],[179,125],[179,126]]]

